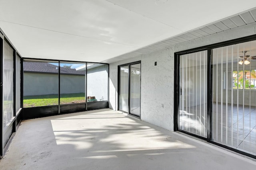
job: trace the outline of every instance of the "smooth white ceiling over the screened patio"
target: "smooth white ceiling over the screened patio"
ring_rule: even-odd
[[[22,57],[102,62],[255,7],[256,0],[0,0],[0,28]]]

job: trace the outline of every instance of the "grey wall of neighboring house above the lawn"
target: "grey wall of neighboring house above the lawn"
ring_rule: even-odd
[[[61,74],[61,93],[84,93],[85,76]],[[58,94],[58,74],[24,72],[24,96]]]

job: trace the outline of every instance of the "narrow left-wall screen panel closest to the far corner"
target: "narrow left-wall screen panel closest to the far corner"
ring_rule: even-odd
[[[20,109],[20,57],[16,57],[16,113]]]

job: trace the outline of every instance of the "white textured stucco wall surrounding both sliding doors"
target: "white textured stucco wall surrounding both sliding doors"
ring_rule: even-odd
[[[118,65],[141,61],[141,119],[174,129],[174,53],[256,34],[256,23],[110,64],[110,108],[118,104]],[[157,61],[157,66],[154,62]]]

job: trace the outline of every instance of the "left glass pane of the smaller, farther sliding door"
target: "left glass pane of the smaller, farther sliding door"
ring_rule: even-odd
[[[120,67],[119,109],[128,112],[129,66]]]

